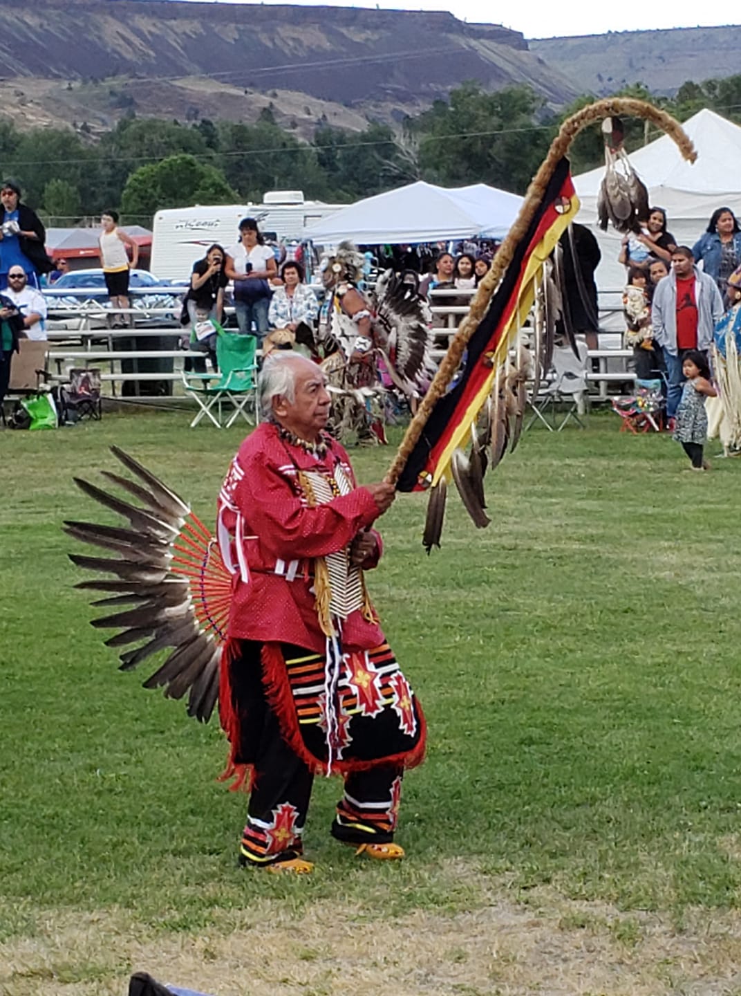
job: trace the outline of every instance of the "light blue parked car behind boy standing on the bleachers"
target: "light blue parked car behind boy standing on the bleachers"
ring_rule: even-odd
[[[171,291],[161,288],[172,287]],[[148,288],[157,288],[148,292]],[[142,319],[177,319],[180,314],[182,295],[186,288],[173,285],[169,280],[159,280],[147,270],[131,270],[128,278],[131,307],[142,312]],[[64,294],[63,291],[73,293]],[[66,273],[50,288],[44,291],[50,310],[72,311],[89,309],[91,305],[110,308],[108,289],[103,270],[73,270]],[[168,315],[151,315],[152,310],[166,308]],[[137,317],[138,321],[138,317]]]

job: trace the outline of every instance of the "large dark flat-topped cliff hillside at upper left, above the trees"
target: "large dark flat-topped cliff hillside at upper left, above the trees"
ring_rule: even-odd
[[[206,112],[216,117],[226,115],[218,113],[215,90],[232,117],[231,98],[245,91],[291,91],[386,121],[429,106],[465,80],[491,89],[527,83],[552,106],[575,96],[521,34],[446,13],[176,0],[36,0],[24,7],[0,0],[3,89],[14,84],[26,106],[36,102],[36,112],[50,95],[41,86],[48,81],[67,88],[64,99],[54,91],[55,113],[65,120],[157,114],[154,83],[164,88],[163,113],[203,114],[189,94],[178,114],[172,85],[185,78],[191,90],[198,78],[196,89],[209,94]],[[78,86],[101,81],[116,91],[110,107],[101,94],[75,100]]]

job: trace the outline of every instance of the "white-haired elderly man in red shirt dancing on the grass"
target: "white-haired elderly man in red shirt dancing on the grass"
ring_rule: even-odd
[[[324,431],[330,395],[316,364],[267,359],[261,407],[266,421],[232,461],[218,509],[233,576],[219,691],[225,774],[251,787],[240,862],[312,870],[302,834],[316,773],[345,779],[333,837],[399,859],[401,777],[422,760],[424,718],[364,578],[381,552],[371,525],[394,490],[356,484]]]

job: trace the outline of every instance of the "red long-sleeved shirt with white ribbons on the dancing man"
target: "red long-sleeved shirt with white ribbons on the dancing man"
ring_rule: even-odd
[[[309,506],[299,471],[333,477],[338,463],[355,486],[345,449],[334,439],[323,456],[283,438],[270,422],[259,425],[234,457],[218,500],[218,539],[232,573],[228,635],[286,642],[324,653],[313,591],[317,557],[346,547],[378,516],[366,488],[324,505]],[[380,552],[380,540],[378,554]],[[377,556],[364,567],[374,567]],[[367,650],[383,642],[377,622],[362,612],[342,623],[345,650]]]

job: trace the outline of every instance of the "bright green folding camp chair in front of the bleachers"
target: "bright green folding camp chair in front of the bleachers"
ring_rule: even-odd
[[[219,373],[182,372],[183,386],[198,404],[198,411],[190,423],[191,428],[204,415],[210,418],[217,429],[229,428],[240,415],[249,423],[250,418],[245,409],[250,401],[255,412],[254,424],[257,425],[256,352],[257,339],[254,336],[220,333],[216,340]],[[233,409],[226,422],[223,410],[225,404],[227,408]]]

